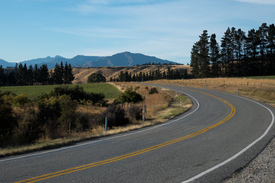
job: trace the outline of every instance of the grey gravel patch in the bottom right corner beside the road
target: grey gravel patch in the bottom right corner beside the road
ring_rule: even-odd
[[[236,171],[222,182],[275,183],[275,137],[244,169]]]

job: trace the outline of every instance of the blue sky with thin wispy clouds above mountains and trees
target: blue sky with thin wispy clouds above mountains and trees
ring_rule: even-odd
[[[187,64],[203,30],[275,23],[275,0],[0,1],[0,58],[110,56],[130,51]]]

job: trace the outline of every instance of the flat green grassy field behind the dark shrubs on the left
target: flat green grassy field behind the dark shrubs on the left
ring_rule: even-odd
[[[107,83],[93,83],[93,84],[78,84],[84,88],[86,92],[103,93],[106,98],[117,98],[121,91],[115,88],[113,85]],[[29,97],[33,98],[42,93],[49,93],[55,87],[62,85],[44,85],[44,86],[16,86],[16,87],[0,87],[2,91],[11,91],[16,95],[26,93]],[[68,87],[74,87],[75,85],[66,85]]]

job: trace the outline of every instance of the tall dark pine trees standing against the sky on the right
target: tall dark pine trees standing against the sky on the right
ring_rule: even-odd
[[[194,77],[257,76],[275,74],[275,27],[263,23],[248,34],[228,28],[219,46],[216,35],[207,30],[191,50]],[[209,42],[210,37],[210,42]]]

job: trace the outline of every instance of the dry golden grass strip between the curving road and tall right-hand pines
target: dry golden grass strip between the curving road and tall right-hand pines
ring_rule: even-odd
[[[246,96],[275,107],[275,79],[206,78],[186,80],[158,80],[148,83],[169,84],[224,91]],[[247,85],[248,83],[248,85]],[[239,91],[239,93],[238,93]]]

